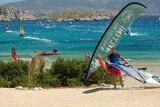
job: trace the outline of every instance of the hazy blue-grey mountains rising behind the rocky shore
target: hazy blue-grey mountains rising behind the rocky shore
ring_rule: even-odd
[[[135,0],[23,0],[7,5],[34,12],[51,13],[53,11],[65,9],[120,10],[124,5],[130,2],[135,2]],[[159,0],[136,0],[136,2],[143,3],[148,7],[147,14],[160,14]]]

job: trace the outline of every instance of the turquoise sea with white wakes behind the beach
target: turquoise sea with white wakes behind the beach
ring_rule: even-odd
[[[0,22],[0,60],[10,60],[11,48],[17,49],[19,57],[31,57],[35,50],[58,49],[65,58],[82,58],[92,53],[98,40],[111,20],[101,21],[23,21],[26,35],[19,37],[19,21]],[[131,26],[131,36],[125,35],[118,51],[129,59],[160,59],[160,19],[143,16]],[[58,56],[50,56],[56,59]]]

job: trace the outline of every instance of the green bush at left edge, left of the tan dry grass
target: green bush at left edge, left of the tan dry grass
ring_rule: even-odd
[[[0,85],[6,87],[26,86],[27,69],[27,64],[21,61],[9,63],[0,62]]]

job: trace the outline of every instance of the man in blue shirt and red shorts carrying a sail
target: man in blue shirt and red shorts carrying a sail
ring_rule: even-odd
[[[123,61],[124,64],[128,64],[128,61],[123,56],[121,56],[116,51],[115,48],[112,48],[112,52],[108,56],[107,61],[110,61],[111,63],[116,63],[116,64],[121,64],[121,62]],[[122,77],[122,74],[121,74],[120,70],[118,70],[118,69],[116,69],[116,68],[114,68],[112,66],[109,67],[109,70],[113,74],[112,82],[113,82],[114,87],[116,88],[116,80],[117,80],[117,78],[119,78],[119,82],[120,82],[121,86],[123,87],[124,86],[123,77]]]

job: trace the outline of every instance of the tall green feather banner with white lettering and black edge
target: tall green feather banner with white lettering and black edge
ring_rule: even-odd
[[[118,41],[127,31],[128,27],[132,25],[135,19],[144,12],[147,7],[143,4],[132,2],[126,5],[118,15],[113,19],[111,24],[103,33],[101,39],[99,40],[92,58],[90,60],[87,78],[97,70],[99,63],[96,59],[97,56],[101,56],[103,59],[109,55],[111,48],[116,47]]]

